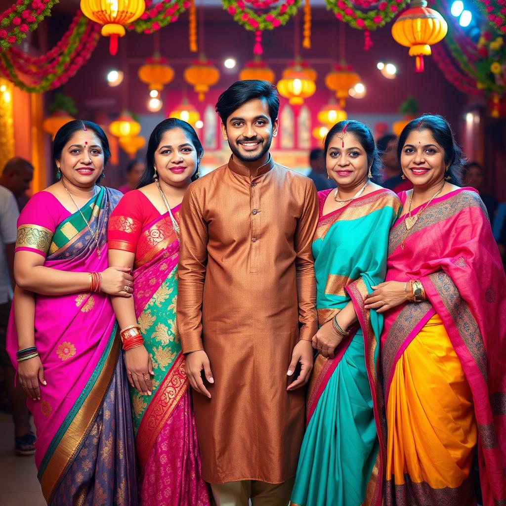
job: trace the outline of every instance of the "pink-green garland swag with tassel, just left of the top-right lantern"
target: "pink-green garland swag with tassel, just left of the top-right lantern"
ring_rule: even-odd
[[[365,9],[367,3],[364,3],[364,0],[358,1],[361,2],[360,7]],[[344,21],[352,28],[359,30],[375,30],[385,25],[407,4],[407,0],[381,0],[375,9],[362,11],[355,8],[356,2],[357,0],[353,0],[353,2],[351,0],[325,0],[327,9],[333,11],[339,21]],[[368,6],[370,5],[372,3],[368,4]]]

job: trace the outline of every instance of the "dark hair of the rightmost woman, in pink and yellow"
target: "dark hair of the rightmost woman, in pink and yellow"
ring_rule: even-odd
[[[465,161],[462,150],[455,142],[451,126],[439,114],[423,114],[411,120],[401,132],[397,144],[397,156],[401,159],[402,149],[409,134],[416,130],[430,130],[434,140],[443,148],[444,162],[448,166],[448,181],[454,185],[462,186],[462,163]]]

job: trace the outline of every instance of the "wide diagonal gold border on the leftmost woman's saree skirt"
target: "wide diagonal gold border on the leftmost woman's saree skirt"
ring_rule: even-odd
[[[104,396],[111,383],[118,356],[119,338],[116,334],[109,355],[95,385],[75,414],[55,452],[51,456],[44,475],[40,478],[40,487],[48,504],[51,502],[56,486],[60,483],[61,478],[93,426],[93,421],[100,410]]]

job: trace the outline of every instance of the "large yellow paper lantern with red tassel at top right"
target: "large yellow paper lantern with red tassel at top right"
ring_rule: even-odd
[[[427,7],[425,0],[414,0],[411,9],[404,11],[392,25],[392,37],[409,48],[414,56],[416,72],[424,71],[424,56],[431,55],[431,45],[443,40],[448,24],[439,12]]]

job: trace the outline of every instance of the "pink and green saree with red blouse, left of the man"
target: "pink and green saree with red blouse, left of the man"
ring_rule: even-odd
[[[179,219],[179,205],[172,209]],[[152,395],[130,387],[143,506],[207,506],[195,419],[176,326],[179,240],[139,190],[126,194],[109,222],[109,248],[135,254],[134,304],[154,370]]]

